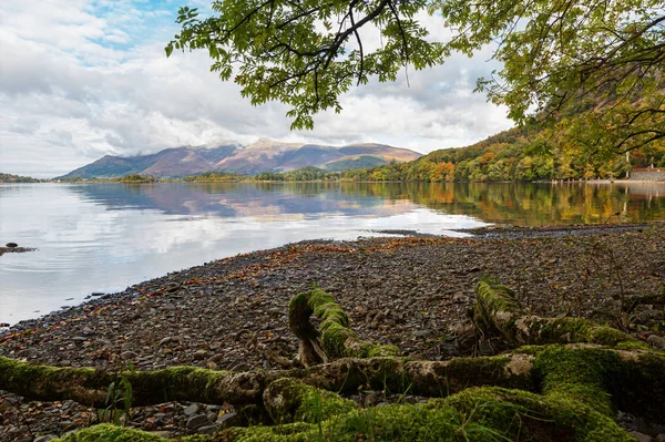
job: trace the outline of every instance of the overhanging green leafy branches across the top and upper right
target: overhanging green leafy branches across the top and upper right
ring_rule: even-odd
[[[340,95],[371,76],[443,63],[490,45],[502,64],[478,91],[516,123],[557,122],[582,145],[626,152],[665,138],[665,9],[656,0],[217,0],[217,16],[182,8],[166,47],[204,49],[211,70],[253,104],[291,106],[291,129],[341,110]],[[450,39],[434,41],[424,14]],[[368,32],[379,32],[371,47]],[[368,42],[369,40],[369,42]],[[573,116],[572,116],[573,115]]]

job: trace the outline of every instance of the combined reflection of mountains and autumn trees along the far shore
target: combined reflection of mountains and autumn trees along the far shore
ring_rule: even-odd
[[[112,209],[256,219],[386,216],[417,205],[483,222],[529,226],[665,218],[665,185],[656,183],[173,183],[71,188]]]

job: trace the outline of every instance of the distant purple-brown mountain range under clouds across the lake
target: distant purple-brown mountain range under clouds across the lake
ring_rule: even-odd
[[[208,171],[255,175],[262,172],[288,172],[305,166],[344,171],[392,162],[403,163],[420,156],[413,151],[382,144],[336,147],[262,138],[244,147],[236,144],[216,147],[185,146],[166,148],[151,155],[106,155],[58,178],[110,178],[130,174],[184,176]]]

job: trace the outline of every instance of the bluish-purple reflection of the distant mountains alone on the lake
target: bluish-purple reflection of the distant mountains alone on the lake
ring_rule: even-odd
[[[351,186],[326,183],[162,183],[152,185],[73,185],[83,199],[111,209],[155,209],[172,215],[274,218],[320,214],[388,216],[409,212],[415,204],[387,202],[382,195],[354,192]]]

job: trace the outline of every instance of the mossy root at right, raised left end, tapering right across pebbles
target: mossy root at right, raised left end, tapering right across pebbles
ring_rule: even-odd
[[[492,281],[480,281],[475,291],[475,326],[483,333],[501,336],[511,347],[586,342],[648,349],[645,343],[620,330],[583,318],[541,318],[528,315],[512,290]]]

